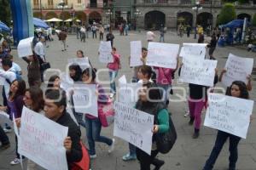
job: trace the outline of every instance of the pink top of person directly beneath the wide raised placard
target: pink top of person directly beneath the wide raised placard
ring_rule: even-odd
[[[156,77],[156,83],[158,84],[172,84],[172,69],[162,68],[162,67],[154,67],[156,71],[158,71]]]

